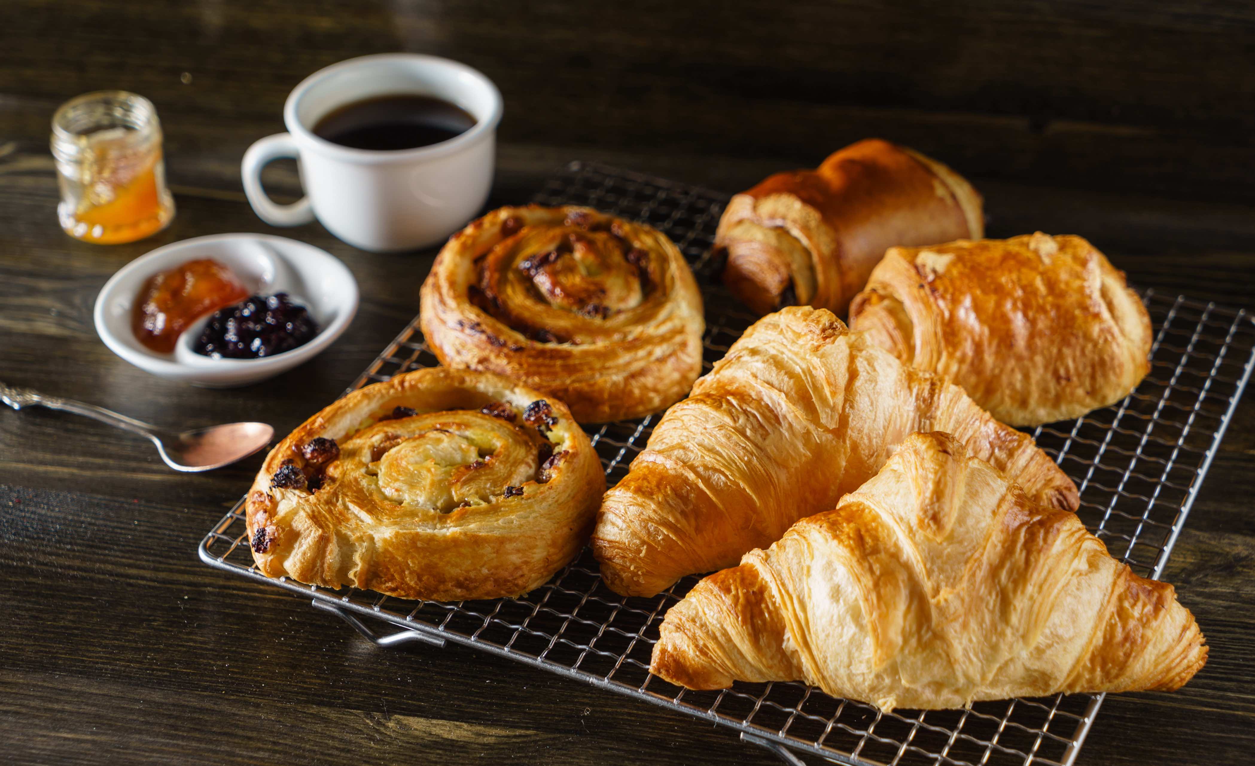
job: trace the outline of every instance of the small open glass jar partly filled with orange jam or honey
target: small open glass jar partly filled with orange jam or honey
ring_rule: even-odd
[[[53,115],[61,228],[84,242],[134,242],[166,228],[161,120],[152,102],[125,90],[87,93]]]

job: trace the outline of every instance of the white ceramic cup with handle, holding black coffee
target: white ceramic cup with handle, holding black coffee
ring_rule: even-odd
[[[449,140],[398,150],[353,149],[314,134],[333,109],[393,94],[447,100],[476,124]],[[328,231],[361,249],[435,244],[488,198],[501,109],[492,80],[449,59],[390,53],[340,61],[305,78],[287,97],[287,133],[267,135],[245,152],[243,191],[271,226],[299,226],[318,216]],[[280,157],[295,157],[300,167],[306,197],[294,204],[277,204],[261,188],[261,169]]]

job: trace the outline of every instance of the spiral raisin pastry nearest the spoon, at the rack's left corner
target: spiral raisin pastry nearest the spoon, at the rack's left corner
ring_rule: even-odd
[[[556,399],[427,369],[353,391],[266,458],[248,491],[267,577],[458,601],[520,595],[587,540],[601,463]]]

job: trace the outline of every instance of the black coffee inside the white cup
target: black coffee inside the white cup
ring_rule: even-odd
[[[314,134],[341,147],[388,152],[449,140],[474,122],[457,104],[429,95],[379,95],[328,113]]]

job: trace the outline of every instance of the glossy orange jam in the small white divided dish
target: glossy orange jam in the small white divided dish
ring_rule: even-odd
[[[197,258],[153,275],[136,296],[132,330],[136,338],[169,354],[187,326],[206,313],[248,297],[248,288],[225,265]]]

